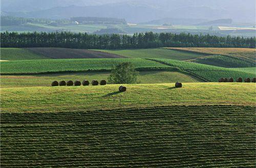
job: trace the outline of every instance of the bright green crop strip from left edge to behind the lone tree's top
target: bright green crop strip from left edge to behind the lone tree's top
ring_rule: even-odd
[[[58,59],[25,60],[1,63],[1,74],[33,74],[51,72],[106,71],[121,62],[131,62],[140,69],[169,68],[167,65],[143,59]]]

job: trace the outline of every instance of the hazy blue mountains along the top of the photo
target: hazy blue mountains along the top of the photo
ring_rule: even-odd
[[[255,22],[255,0],[1,0],[9,15],[36,18],[114,17],[128,22],[162,18]]]

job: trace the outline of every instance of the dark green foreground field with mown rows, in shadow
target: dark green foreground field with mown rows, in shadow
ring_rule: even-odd
[[[1,114],[1,167],[255,167],[255,107]]]

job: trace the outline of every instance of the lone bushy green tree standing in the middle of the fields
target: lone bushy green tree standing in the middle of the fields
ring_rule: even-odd
[[[132,63],[125,62],[115,66],[108,78],[109,83],[125,84],[136,83],[139,72]]]

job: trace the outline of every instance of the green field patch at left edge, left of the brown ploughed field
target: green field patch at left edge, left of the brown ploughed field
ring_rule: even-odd
[[[1,60],[42,60],[44,55],[35,54],[23,48],[0,48]]]

